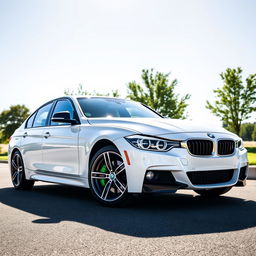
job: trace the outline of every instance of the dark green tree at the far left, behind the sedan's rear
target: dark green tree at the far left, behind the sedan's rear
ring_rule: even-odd
[[[29,109],[25,105],[14,105],[0,113],[0,132],[2,142],[8,141],[14,131],[29,116]]]

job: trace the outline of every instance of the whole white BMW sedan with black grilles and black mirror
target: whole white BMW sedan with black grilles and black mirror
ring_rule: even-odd
[[[244,186],[248,172],[237,135],[105,97],[61,97],[38,108],[13,134],[9,165],[16,189],[35,181],[86,187],[105,205],[178,189],[217,196]]]

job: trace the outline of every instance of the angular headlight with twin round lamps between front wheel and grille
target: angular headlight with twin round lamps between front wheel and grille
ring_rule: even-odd
[[[127,136],[125,139],[135,148],[143,150],[168,151],[174,147],[180,147],[179,141],[164,140],[144,135]]]

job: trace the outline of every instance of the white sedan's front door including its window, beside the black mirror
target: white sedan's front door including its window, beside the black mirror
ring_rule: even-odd
[[[76,110],[70,99],[57,100],[51,118],[55,113],[68,111],[71,119],[77,119]],[[78,175],[78,136],[80,125],[52,122],[43,132],[43,170],[57,175]]]

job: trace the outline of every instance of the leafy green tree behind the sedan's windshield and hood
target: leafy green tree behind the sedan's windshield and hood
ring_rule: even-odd
[[[169,81],[170,73],[154,72],[153,69],[142,70],[144,86],[135,81],[128,84],[128,98],[148,105],[163,116],[171,118],[185,118],[189,94],[179,97],[174,93],[178,84],[176,79]]]

